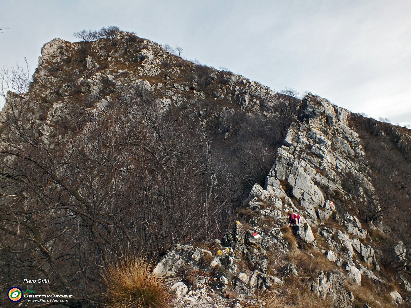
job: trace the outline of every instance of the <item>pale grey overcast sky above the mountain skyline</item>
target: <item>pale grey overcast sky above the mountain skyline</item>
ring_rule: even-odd
[[[1,0],[0,67],[116,25],[279,91],[411,125],[410,0]]]

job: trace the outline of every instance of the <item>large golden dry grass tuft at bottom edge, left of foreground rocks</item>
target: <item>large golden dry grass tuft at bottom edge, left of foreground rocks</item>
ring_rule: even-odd
[[[129,257],[109,267],[103,274],[107,286],[107,307],[167,307],[170,294],[150,272],[150,264],[143,257]]]

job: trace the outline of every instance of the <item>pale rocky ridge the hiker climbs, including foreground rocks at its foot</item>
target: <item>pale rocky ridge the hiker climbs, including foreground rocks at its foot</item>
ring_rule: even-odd
[[[379,204],[367,176],[361,141],[347,117],[347,110],[326,99],[312,94],[303,99],[299,121],[291,124],[278,149],[265,187],[255,184],[250,192],[247,209],[253,217],[236,221],[221,241],[216,239],[212,251],[178,245],[155,267],[153,274],[172,279],[181,278],[182,271],[195,273],[195,283],[185,281],[190,291],[178,295],[175,307],[205,303],[222,307],[226,301],[221,302],[222,296],[232,291],[238,295],[232,299],[233,307],[247,306],[256,292],[279,293],[290,277],[301,279],[307,291],[335,307],[358,305],[352,285],[361,286],[364,279],[380,285],[381,291],[388,288],[378,261],[383,256],[368,231],[383,232],[387,227],[370,222],[365,228],[355,215],[357,202],[365,208]],[[282,228],[288,210],[305,218],[298,234],[304,248],[294,259],[286,258],[295,251]],[[396,249],[405,262],[401,242]],[[326,262],[307,270],[300,262],[303,255]],[[404,286],[409,285],[402,279]],[[396,290],[388,294],[393,304],[404,303]],[[369,303],[379,303],[378,295]]]

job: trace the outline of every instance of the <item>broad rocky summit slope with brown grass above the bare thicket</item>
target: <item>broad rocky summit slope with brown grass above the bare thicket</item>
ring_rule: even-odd
[[[114,101],[142,92],[155,95],[164,110],[187,103],[198,105],[205,99],[215,101],[215,106],[200,110],[205,121],[209,115],[223,121],[238,108],[270,116],[272,104],[278,100],[269,87],[182,60],[161,45],[124,31],[115,39],[48,42],[42,48],[30,91],[21,98],[29,103],[25,106],[28,116],[40,126],[44,138],[56,140],[61,135],[59,127],[85,115],[84,107],[98,116]],[[3,114],[9,110],[6,102]]]

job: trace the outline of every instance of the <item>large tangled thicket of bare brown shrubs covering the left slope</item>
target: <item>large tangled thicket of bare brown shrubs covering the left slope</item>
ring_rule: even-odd
[[[4,80],[25,90],[24,76]],[[98,302],[100,267],[127,253],[157,260],[177,242],[225,230],[230,176],[215,163],[206,131],[164,113],[150,92],[112,102],[104,117],[73,105],[82,116],[56,127],[65,138],[53,144],[30,120],[30,102],[8,99],[0,123],[1,287],[49,278],[53,285],[39,292],[70,288],[77,302]]]

